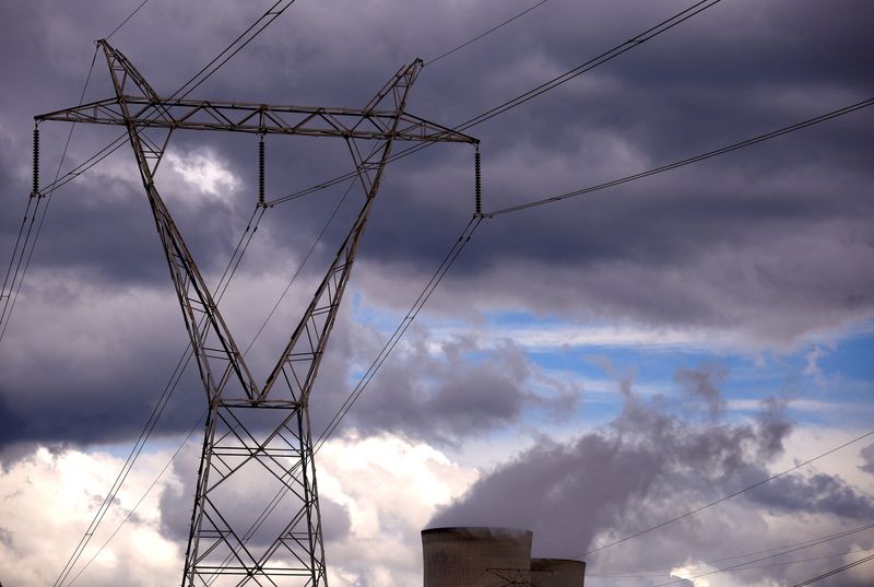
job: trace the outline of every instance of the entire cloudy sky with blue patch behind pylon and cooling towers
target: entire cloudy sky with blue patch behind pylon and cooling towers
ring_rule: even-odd
[[[548,0],[436,59],[535,3],[297,0],[191,97],[363,107],[421,57],[408,110],[454,127],[693,2]],[[76,105],[86,79],[86,101],[114,95],[102,56],[88,75],[93,40],[139,4],[0,2],[4,266],[31,191],[33,117]],[[150,0],[110,43],[170,95],[270,4]],[[869,99],[872,16],[864,0],[718,2],[465,130],[481,141],[483,209]],[[40,125],[44,186],[69,132]],[[78,126],[61,175],[118,134]],[[269,200],[353,167],[338,141],[265,142]],[[874,436],[613,544],[870,432],[872,144],[871,110],[860,109],[484,219],[317,456],[330,583],[420,584],[420,531],[440,526],[530,529],[534,555],[584,560],[592,587],[794,585],[872,554]],[[210,283],[247,226],[257,173],[256,137],[180,131],[169,143],[157,187]],[[222,298],[238,343],[255,339],[247,361],[259,379],[351,226],[363,195],[346,187],[268,209]],[[386,168],[314,389],[315,431],[378,356],[473,202],[470,145]],[[187,345],[127,145],[42,206],[0,340],[0,582],[10,587],[58,577]],[[189,368],[73,584],[179,580],[204,408]],[[781,548],[798,550],[765,559]],[[873,573],[867,563],[818,585],[861,587]]]

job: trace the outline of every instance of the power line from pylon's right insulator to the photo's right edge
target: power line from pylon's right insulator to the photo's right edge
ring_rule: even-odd
[[[826,113],[819,116],[815,116],[813,118],[808,118],[807,120],[803,120],[801,122],[795,122],[794,125],[790,125],[788,127],[783,127],[778,130],[773,130],[771,132],[766,132],[765,134],[759,134],[758,137],[753,137],[752,139],[746,139],[744,141],[740,141],[727,146],[722,146],[720,149],[716,149],[713,151],[708,151],[707,153],[701,153],[700,155],[695,155],[692,157],[683,159],[680,161],[675,161],[674,163],[669,163],[666,165],[662,165],[660,167],[654,167],[652,169],[640,172],[635,175],[628,175],[622,177],[619,179],[613,179],[612,181],[605,181],[603,184],[598,184],[595,186],[590,186],[588,188],[581,188],[574,191],[568,191],[565,193],[559,193],[558,196],[551,196],[548,198],[541,198],[538,200],[533,200],[531,202],[521,203],[518,206],[510,206],[508,208],[501,208],[499,210],[493,210],[491,212],[486,212],[486,216],[497,216],[500,214],[508,214],[510,212],[519,212],[520,210],[528,210],[529,208],[535,208],[538,206],[544,206],[547,203],[557,202],[560,200],[566,200],[568,198],[576,198],[577,196],[583,196],[586,193],[591,193],[592,191],[598,191],[606,188],[612,188],[622,184],[627,184],[628,181],[635,181],[637,179],[642,179],[645,177],[649,177],[652,175],[661,174],[664,172],[670,172],[672,169],[676,169],[677,167],[683,167],[685,165],[692,165],[693,163],[698,163],[700,161],[705,161],[711,157],[716,157],[718,155],[724,155],[725,153],[731,153],[732,151],[737,151],[740,149],[744,149],[746,146],[752,146],[754,144],[768,141],[770,139],[776,139],[777,137],[782,137],[783,134],[789,134],[790,132],[794,132],[796,130],[801,130],[814,125],[818,125],[820,122],[825,122],[827,120],[831,120],[832,118],[837,118],[839,116],[845,116],[855,110],[860,110],[862,108],[867,108],[869,106],[874,105],[874,98],[863,99],[862,102],[857,102],[850,106],[845,106],[842,108],[838,108],[837,110],[831,110],[830,113]]]

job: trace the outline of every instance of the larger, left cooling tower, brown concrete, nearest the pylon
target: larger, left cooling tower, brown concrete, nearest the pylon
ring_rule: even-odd
[[[503,587],[530,578],[531,538],[511,528],[422,530],[425,587]]]

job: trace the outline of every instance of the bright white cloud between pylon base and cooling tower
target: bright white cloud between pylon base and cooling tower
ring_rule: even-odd
[[[318,461],[320,494],[352,520],[350,536],[326,554],[334,585],[421,583],[418,532],[477,477],[432,446],[391,435],[331,441]]]

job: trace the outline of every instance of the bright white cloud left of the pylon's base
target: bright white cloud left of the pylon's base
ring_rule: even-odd
[[[131,587],[169,585],[181,568],[180,549],[157,530],[153,492],[99,554],[99,547],[166,462],[163,453],[144,456],[119,492],[101,528],[84,550],[70,579],[95,554],[79,585]],[[52,583],[103,501],[122,460],[106,454],[39,448],[0,476],[0,568],[9,585],[36,587]],[[68,579],[69,580],[69,579]]]

